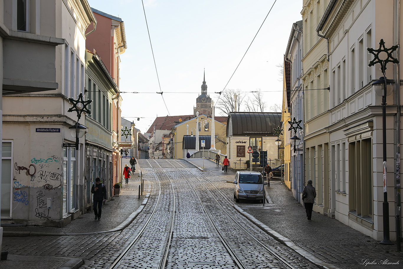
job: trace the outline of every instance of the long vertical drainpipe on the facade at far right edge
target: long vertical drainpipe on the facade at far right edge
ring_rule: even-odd
[[[395,1],[395,45],[398,45],[396,50],[396,58],[400,60],[400,0]],[[400,117],[401,117],[401,107],[400,107],[400,66],[396,65],[395,69],[396,76],[396,145],[400,145]],[[396,241],[397,241],[397,251],[400,251],[401,242],[401,192],[400,192],[400,146],[396,146],[396,182],[395,182],[395,194],[396,194]]]

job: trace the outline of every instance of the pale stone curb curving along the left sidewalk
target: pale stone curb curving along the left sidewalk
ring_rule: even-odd
[[[118,226],[116,226],[116,227],[114,227],[112,229],[106,230],[106,231],[93,231],[93,232],[88,232],[88,233],[45,233],[45,232],[38,232],[38,231],[3,231],[3,236],[7,236],[7,237],[13,237],[13,236],[17,236],[17,237],[25,237],[25,236],[80,236],[80,235],[105,234],[105,233],[122,231],[127,226],[129,226],[130,223],[133,222],[133,220],[140,214],[141,211],[143,211],[145,205],[148,202],[148,198],[150,198],[151,189],[152,189],[151,182],[148,181],[148,189],[147,190],[149,190],[149,191],[147,191],[147,192],[149,192],[149,194],[145,195],[145,198],[144,198],[143,202],[141,202],[139,208],[135,212],[131,213]],[[63,267],[61,269],[63,269]]]

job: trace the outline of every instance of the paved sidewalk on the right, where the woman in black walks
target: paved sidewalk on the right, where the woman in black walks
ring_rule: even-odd
[[[234,179],[235,171],[228,169],[224,173],[221,166],[216,167],[213,161],[205,159],[203,167],[201,159],[186,160],[199,169],[221,175],[228,181]],[[232,197],[232,192],[232,188],[229,188],[227,197]],[[403,268],[403,253],[397,252],[396,242],[394,245],[381,245],[371,237],[319,213],[312,213],[312,220],[308,221],[305,208],[294,199],[283,181],[270,181],[270,187],[266,186],[266,199],[268,203],[264,206],[254,201],[245,201],[236,203],[234,207],[270,236],[319,267]]]

